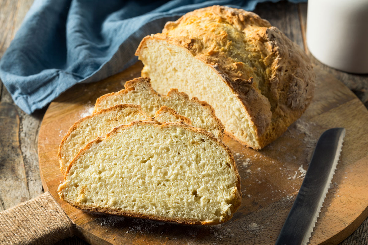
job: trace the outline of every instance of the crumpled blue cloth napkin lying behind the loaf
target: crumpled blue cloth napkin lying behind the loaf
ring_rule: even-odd
[[[0,79],[30,114],[76,83],[134,64],[141,39],[167,21],[215,4],[254,10],[264,1],[35,0],[0,61]]]

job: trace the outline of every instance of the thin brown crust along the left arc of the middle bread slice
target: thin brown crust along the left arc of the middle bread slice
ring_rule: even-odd
[[[114,105],[113,107],[109,107],[109,108],[106,108],[106,109],[102,109],[98,112],[93,112],[92,115],[89,115],[89,116],[85,116],[84,118],[81,118],[79,119],[77,122],[75,122],[68,130],[68,132],[65,134],[65,136],[63,137],[63,139],[61,140],[61,143],[59,145],[59,149],[57,151],[57,156],[59,157],[59,162],[60,162],[60,171],[61,173],[65,174],[65,166],[63,164],[63,162],[61,161],[61,158],[63,157],[62,156],[62,148],[64,146],[64,143],[65,141],[67,140],[67,138],[70,136],[70,134],[78,128],[78,126],[84,122],[85,120],[88,120],[89,118],[92,118],[93,116],[96,116],[96,115],[100,115],[100,114],[104,114],[106,112],[109,112],[109,111],[117,111],[117,110],[121,110],[121,109],[124,109],[124,108],[135,108],[135,109],[138,109],[139,112],[142,114],[142,115],[145,115],[147,116],[147,118],[149,118],[149,116],[142,110],[141,106],[140,105],[135,105],[135,104],[118,104],[118,105]]]

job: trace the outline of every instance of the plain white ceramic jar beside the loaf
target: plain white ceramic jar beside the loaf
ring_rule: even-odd
[[[307,45],[328,66],[368,73],[368,0],[308,0]]]

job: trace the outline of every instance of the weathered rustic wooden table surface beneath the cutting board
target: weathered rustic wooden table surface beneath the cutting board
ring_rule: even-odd
[[[32,0],[0,1],[0,57],[31,7]],[[355,75],[329,68],[309,54],[305,45],[307,4],[258,4],[255,11],[268,19],[291,40],[304,48],[314,65],[333,74],[351,89],[368,107],[368,75]],[[147,33],[150,34],[150,33]],[[43,191],[37,155],[39,126],[46,108],[25,114],[14,104],[0,81],[0,210],[27,201]],[[10,117],[10,115],[13,115]],[[15,116],[14,116],[15,115]],[[368,219],[340,245],[361,245],[368,241]],[[78,237],[67,238],[57,244],[87,244]]]

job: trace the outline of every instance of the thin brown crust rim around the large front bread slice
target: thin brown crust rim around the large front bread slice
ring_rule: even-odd
[[[171,219],[171,218],[167,218],[167,217],[161,217],[161,216],[155,216],[155,215],[146,215],[146,214],[123,211],[123,210],[114,210],[114,209],[105,209],[105,208],[91,208],[90,206],[78,205],[76,203],[70,203],[70,202],[68,202],[68,203],[70,205],[76,207],[76,208],[83,209],[83,210],[88,210],[90,212],[99,212],[99,213],[106,213],[106,214],[111,214],[111,215],[129,216],[129,217],[136,217],[136,218],[146,218],[146,219],[159,220],[159,221],[176,222],[176,223],[181,223],[181,224],[214,225],[214,224],[223,223],[223,222],[231,219],[231,217],[233,216],[233,214],[235,213],[235,211],[239,208],[239,206],[241,204],[242,193],[241,193],[241,188],[240,188],[240,175],[239,175],[239,172],[238,172],[238,167],[237,167],[237,165],[234,161],[233,154],[231,153],[229,147],[227,147],[227,145],[225,145],[221,140],[219,140],[218,138],[213,136],[212,133],[209,133],[208,131],[206,131],[204,129],[201,129],[201,128],[198,128],[198,127],[193,127],[193,126],[190,126],[190,125],[181,124],[181,123],[176,123],[176,122],[161,124],[161,123],[157,122],[154,119],[151,119],[149,121],[133,121],[129,125],[121,125],[121,126],[115,127],[112,131],[110,131],[108,134],[106,134],[106,138],[112,137],[114,134],[120,133],[120,131],[124,130],[125,128],[132,127],[132,126],[135,126],[135,125],[140,126],[140,125],[147,125],[147,124],[155,125],[157,127],[181,127],[182,129],[202,134],[204,137],[207,137],[209,140],[212,140],[212,141],[215,141],[215,142],[219,143],[220,146],[223,147],[226,150],[227,154],[230,157],[230,164],[233,166],[234,173],[235,173],[236,179],[237,179],[236,180],[236,190],[234,190],[234,194],[233,194],[234,203],[232,203],[233,205],[230,207],[231,215],[224,216],[222,221],[203,221],[203,220],[183,219],[183,218]],[[95,140],[88,143],[83,149],[81,149],[79,151],[79,153],[77,154],[77,156],[75,156],[73,161],[68,166],[68,169],[66,171],[66,176],[68,175],[72,165],[77,161],[77,159],[79,157],[81,157],[83,154],[85,154],[85,152],[89,148],[91,148],[93,145],[96,145],[96,144],[100,143],[101,141],[105,140],[106,138],[98,137]],[[59,186],[58,192],[59,192],[59,197],[61,199],[63,199],[64,201],[66,201],[64,199],[64,196],[63,196],[63,193],[62,193],[62,190],[65,186],[64,184],[65,184],[65,182]]]

